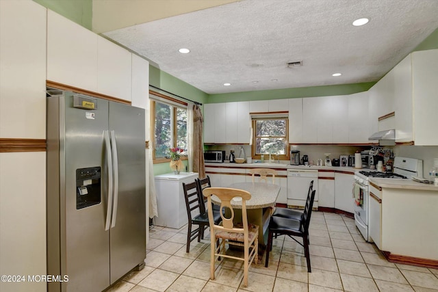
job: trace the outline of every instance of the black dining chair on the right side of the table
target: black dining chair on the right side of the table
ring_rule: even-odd
[[[298,244],[304,248],[304,254],[307,260],[307,271],[311,273],[310,254],[309,254],[309,224],[312,213],[313,200],[315,200],[315,190],[311,192],[310,202],[306,206],[302,220],[294,220],[285,217],[272,216],[269,221],[268,246],[266,246],[266,261],[265,267],[269,265],[269,254],[272,248],[272,237],[276,235],[287,235],[294,239]],[[302,237],[302,243],[294,237]]]

